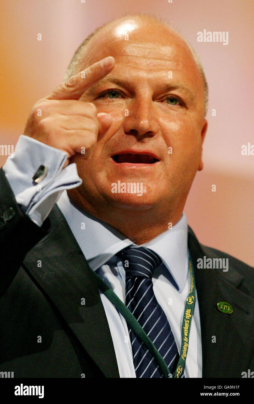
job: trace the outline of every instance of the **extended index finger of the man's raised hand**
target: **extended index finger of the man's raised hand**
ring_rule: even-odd
[[[62,82],[57,86],[51,94],[45,97],[46,99],[72,99],[78,100],[90,86],[95,84],[98,80],[113,69],[115,59],[113,56],[105,57],[99,62],[87,67],[86,69],[69,77],[68,80]]]

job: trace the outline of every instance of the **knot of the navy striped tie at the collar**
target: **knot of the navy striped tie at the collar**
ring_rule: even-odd
[[[126,278],[132,276],[152,278],[153,272],[162,262],[160,257],[149,248],[136,246],[122,250],[122,261]]]

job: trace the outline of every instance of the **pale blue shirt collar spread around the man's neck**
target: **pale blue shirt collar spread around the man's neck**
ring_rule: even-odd
[[[93,270],[104,265],[123,248],[136,245],[112,226],[80,210],[69,200],[67,191],[63,192],[57,205]],[[188,274],[187,232],[187,218],[183,213],[172,229],[142,244],[160,256],[179,292],[183,290]]]

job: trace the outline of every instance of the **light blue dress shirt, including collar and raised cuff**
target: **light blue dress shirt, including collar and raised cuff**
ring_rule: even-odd
[[[3,169],[17,202],[23,205],[27,215],[38,225],[43,223],[52,206],[58,201],[57,205],[90,267],[97,271],[116,295],[125,302],[125,270],[121,259],[115,254],[126,246],[135,244],[107,223],[99,221],[71,203],[66,189],[77,187],[82,181],[78,177],[76,164],[62,169],[65,160],[66,155],[62,151],[21,136],[14,156],[7,160]],[[43,180],[42,189],[38,191],[37,185],[31,185],[31,178],[40,164],[47,164],[51,169],[46,176],[46,181]],[[153,274],[153,290],[166,314],[178,352],[180,352],[185,300],[190,289],[185,214],[183,213],[172,229],[164,231],[142,246],[156,252],[164,263]],[[135,378],[126,320],[102,292],[100,295],[113,340],[120,377]],[[185,377],[202,377],[202,346],[197,297],[184,374]]]

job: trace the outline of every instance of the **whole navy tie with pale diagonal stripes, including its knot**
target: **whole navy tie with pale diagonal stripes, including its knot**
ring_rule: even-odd
[[[179,355],[170,325],[153,292],[153,271],[160,257],[149,248],[130,246],[122,250],[126,270],[125,304],[174,373]],[[126,262],[128,261],[128,263]],[[163,377],[157,361],[128,325],[136,377]]]

